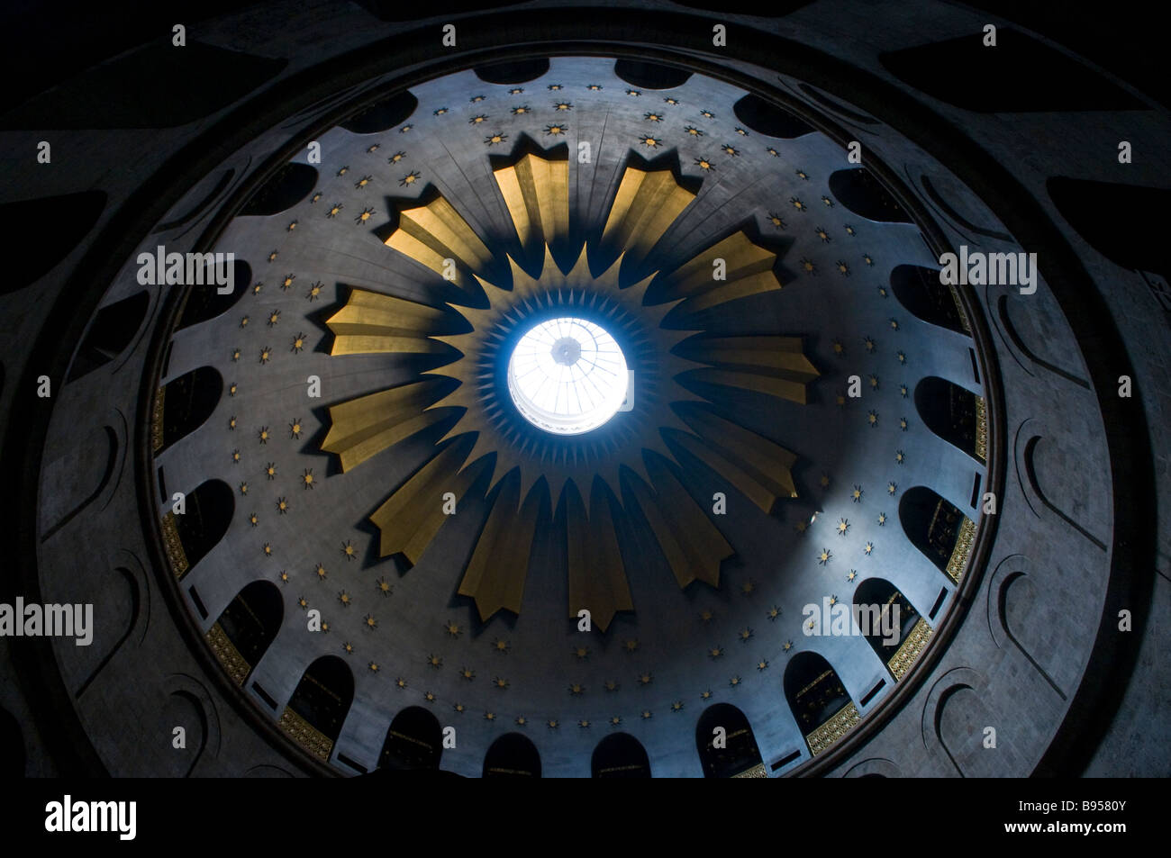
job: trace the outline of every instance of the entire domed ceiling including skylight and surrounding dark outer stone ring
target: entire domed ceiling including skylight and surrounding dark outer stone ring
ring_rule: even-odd
[[[781,6],[273,4],[0,117],[68,165],[0,205],[0,586],[94,609],[0,634],[0,747],[1158,766],[1165,111],[964,5]]]

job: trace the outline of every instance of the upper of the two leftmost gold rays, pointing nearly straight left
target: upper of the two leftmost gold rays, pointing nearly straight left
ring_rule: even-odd
[[[329,354],[443,354],[444,346],[427,335],[438,330],[445,315],[415,301],[352,289],[345,306],[326,320],[334,334]]]

